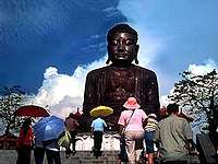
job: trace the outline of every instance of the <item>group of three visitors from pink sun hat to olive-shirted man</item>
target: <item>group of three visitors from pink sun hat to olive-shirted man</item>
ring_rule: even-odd
[[[155,114],[147,116],[134,97],[130,97],[123,106],[126,110],[121,113],[118,124],[120,134],[125,139],[124,144],[121,141],[125,152],[121,151],[120,162],[126,161],[128,156],[130,164],[145,161],[148,164],[156,161],[164,164],[187,163],[189,153],[195,145],[190,122],[179,115],[179,105],[169,104],[161,120]]]

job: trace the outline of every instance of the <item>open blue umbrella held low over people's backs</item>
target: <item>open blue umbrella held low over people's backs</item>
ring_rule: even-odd
[[[41,118],[34,125],[35,138],[41,141],[58,139],[63,130],[64,121],[57,116]]]

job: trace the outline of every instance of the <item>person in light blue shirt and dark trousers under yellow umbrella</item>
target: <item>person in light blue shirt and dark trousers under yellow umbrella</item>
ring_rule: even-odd
[[[96,157],[101,155],[101,143],[102,143],[102,134],[105,128],[107,128],[106,121],[101,118],[101,116],[98,116],[96,119],[93,120],[92,125],[92,136],[94,136],[94,155]]]

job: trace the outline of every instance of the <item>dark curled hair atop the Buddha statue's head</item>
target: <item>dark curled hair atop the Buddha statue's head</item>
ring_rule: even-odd
[[[125,24],[125,23],[121,23],[121,24],[117,24],[112,26],[108,31],[107,40],[109,42],[111,37],[113,36],[113,34],[116,33],[130,33],[133,35],[133,39],[135,43],[137,42],[137,38],[138,38],[137,32],[133,27],[131,27],[129,24]]]

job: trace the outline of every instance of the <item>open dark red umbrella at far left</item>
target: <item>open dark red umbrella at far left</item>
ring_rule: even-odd
[[[15,116],[31,116],[31,117],[47,117],[48,110],[36,105],[25,105],[17,108],[14,113]]]

